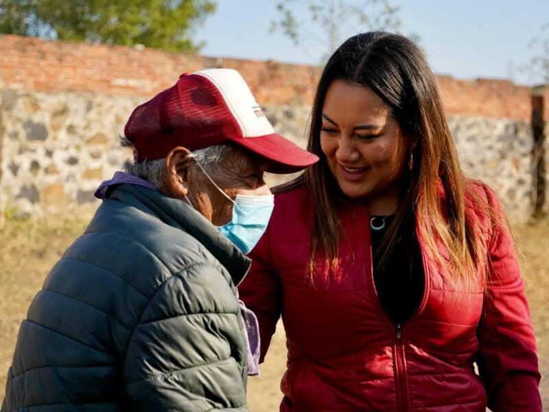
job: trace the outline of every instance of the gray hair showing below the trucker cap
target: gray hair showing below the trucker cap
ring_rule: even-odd
[[[126,137],[120,137],[122,147],[133,148],[133,144]],[[229,144],[216,144],[207,148],[194,150],[192,155],[196,163],[200,163],[209,174],[215,174],[215,169],[219,167],[223,159],[226,159],[234,150]],[[166,174],[166,165],[164,159],[145,160],[139,163],[126,161],[124,170],[129,174],[144,179],[154,185],[154,187],[162,187]]]

